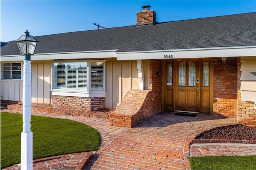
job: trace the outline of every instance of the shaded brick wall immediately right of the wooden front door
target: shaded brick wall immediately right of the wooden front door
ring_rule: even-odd
[[[214,58],[214,115],[236,118],[237,115],[237,57]]]

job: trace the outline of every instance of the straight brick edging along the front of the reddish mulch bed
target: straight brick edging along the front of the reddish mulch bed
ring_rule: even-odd
[[[256,144],[254,140],[234,140],[234,139],[192,139],[190,143],[244,143]]]

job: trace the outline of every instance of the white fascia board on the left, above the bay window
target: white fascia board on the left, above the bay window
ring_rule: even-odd
[[[115,50],[103,51],[81,51],[68,53],[43,53],[31,56],[31,60],[64,60],[64,59],[96,59],[96,58],[116,58]],[[23,61],[24,55],[1,56],[1,61]]]

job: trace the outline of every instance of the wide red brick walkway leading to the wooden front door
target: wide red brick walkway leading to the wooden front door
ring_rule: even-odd
[[[160,113],[106,143],[88,165],[92,169],[189,169],[190,141],[202,131],[235,123],[235,119],[207,115]]]

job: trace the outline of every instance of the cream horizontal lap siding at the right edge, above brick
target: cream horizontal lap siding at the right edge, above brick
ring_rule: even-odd
[[[246,102],[256,102],[256,76],[251,72],[256,72],[256,57],[241,58],[241,100]]]

